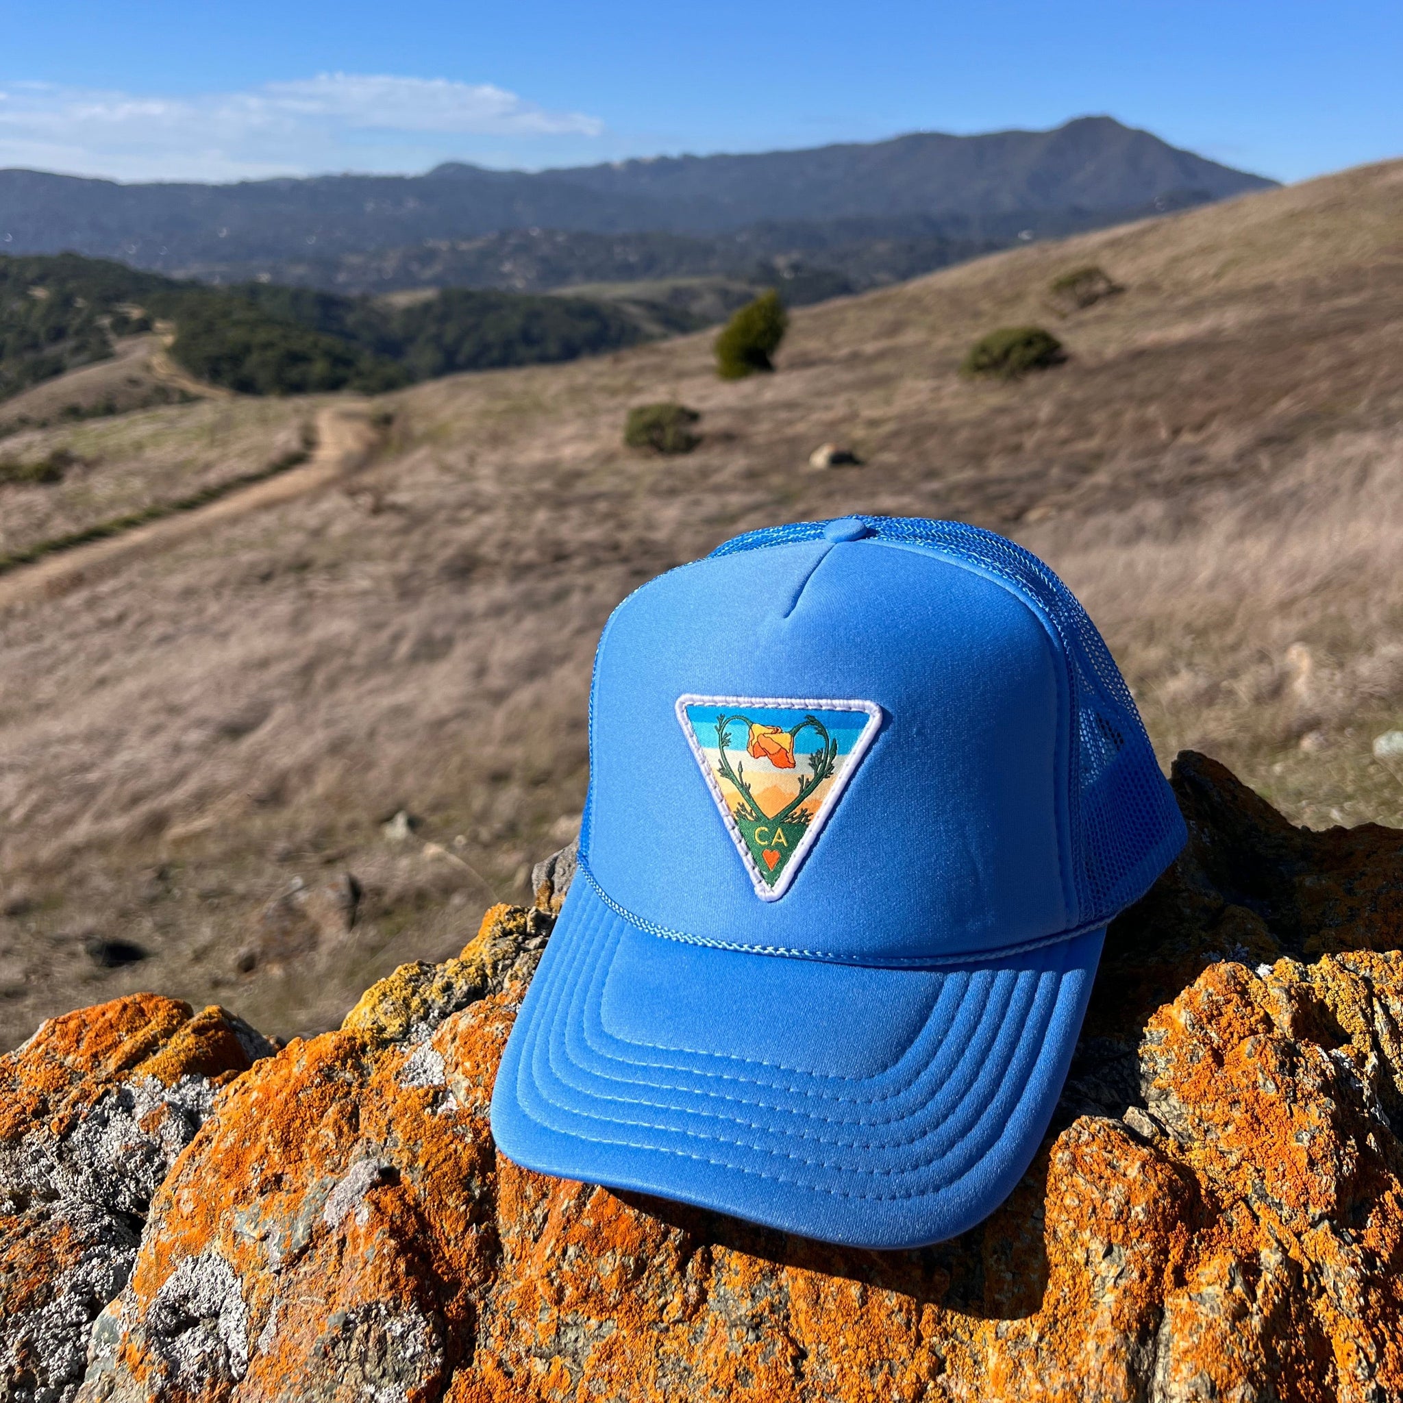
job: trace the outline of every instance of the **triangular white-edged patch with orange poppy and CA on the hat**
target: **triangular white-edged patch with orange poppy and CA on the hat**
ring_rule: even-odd
[[[755,894],[788,891],[881,723],[871,702],[678,697],[678,720]]]

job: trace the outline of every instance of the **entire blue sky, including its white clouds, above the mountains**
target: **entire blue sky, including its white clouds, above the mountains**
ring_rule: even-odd
[[[1108,112],[1280,180],[1403,154],[1399,0],[0,0],[0,167],[539,168]]]

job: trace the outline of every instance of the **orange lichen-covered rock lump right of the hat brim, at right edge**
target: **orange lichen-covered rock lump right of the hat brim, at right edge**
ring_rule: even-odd
[[[1215,965],[1150,1020],[1149,1110],[1215,1205],[1166,1301],[1167,1378],[1403,1396],[1403,1153],[1383,1111],[1396,1068],[1365,1031],[1400,1017],[1403,958],[1344,954],[1264,978]]]

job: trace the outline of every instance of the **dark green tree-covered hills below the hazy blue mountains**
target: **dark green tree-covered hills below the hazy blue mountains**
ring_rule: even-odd
[[[171,358],[240,394],[379,393],[645,338],[612,302],[448,290],[408,307],[276,285],[216,289],[76,254],[0,257],[0,401],[171,328]],[[690,321],[682,323],[692,325]],[[679,327],[672,318],[668,330]]]

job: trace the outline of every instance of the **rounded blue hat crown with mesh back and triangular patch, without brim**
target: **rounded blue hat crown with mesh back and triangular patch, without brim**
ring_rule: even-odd
[[[600,640],[591,765],[586,880],[730,948],[939,965],[1062,939],[1183,842],[1086,613],[953,522],[752,532],[643,586]]]

